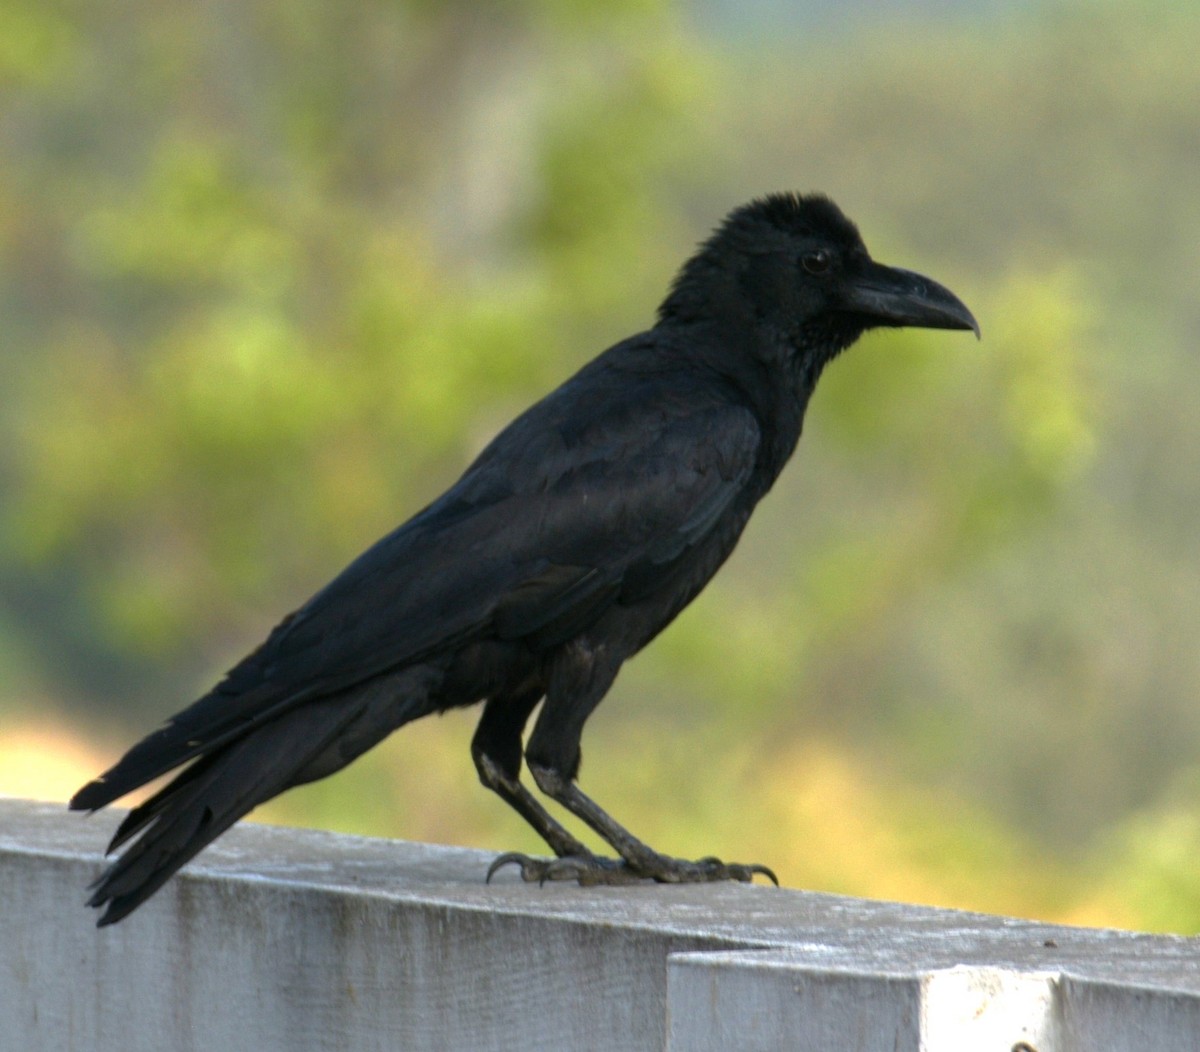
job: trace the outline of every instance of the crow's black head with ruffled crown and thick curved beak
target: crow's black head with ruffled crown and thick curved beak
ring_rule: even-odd
[[[937,282],[871,259],[827,197],[779,193],[731,212],[684,265],[660,319],[767,327],[822,361],[868,329],[979,324]]]

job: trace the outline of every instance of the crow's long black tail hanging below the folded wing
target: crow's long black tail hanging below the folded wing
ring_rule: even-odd
[[[222,740],[200,755],[134,807],[107,853],[138,834],[140,837],[89,889],[88,904],[107,907],[98,926],[115,924],[137,909],[176,870],[259,804],[332,774],[397,727],[431,711],[427,690],[397,696],[396,686],[395,680],[376,683],[252,725],[242,737]],[[126,759],[132,756],[142,765],[143,746],[131,749]],[[133,788],[122,771],[126,759],[84,786],[71,807],[95,811]]]

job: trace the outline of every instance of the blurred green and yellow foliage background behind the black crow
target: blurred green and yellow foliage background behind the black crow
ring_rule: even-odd
[[[0,792],[65,800],[730,208],[822,190],[983,343],[830,367],[582,785],[793,886],[1200,931],[1198,38],[1144,0],[6,0]],[[539,850],[474,717],[256,818]]]

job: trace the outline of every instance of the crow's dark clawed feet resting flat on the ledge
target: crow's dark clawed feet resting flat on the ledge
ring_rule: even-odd
[[[517,852],[500,855],[487,870],[487,880],[504,866],[515,865],[526,883],[545,884],[547,880],[574,880],[581,886],[596,884],[638,884],[654,880],[659,884],[708,884],[719,880],[738,880],[749,884],[756,876],[766,877],[776,888],[779,879],[767,867],[758,864],[722,862],[716,858],[697,861],[672,859],[650,853],[638,865],[624,859],[606,859],[599,855],[565,855],[560,859],[535,859]]]

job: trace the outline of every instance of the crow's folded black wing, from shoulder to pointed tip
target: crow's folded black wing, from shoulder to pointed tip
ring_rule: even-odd
[[[299,704],[470,639],[552,645],[623,589],[668,579],[742,492],[760,433],[703,389],[631,393],[625,380],[581,374],[518,417],[72,806],[103,806]]]

